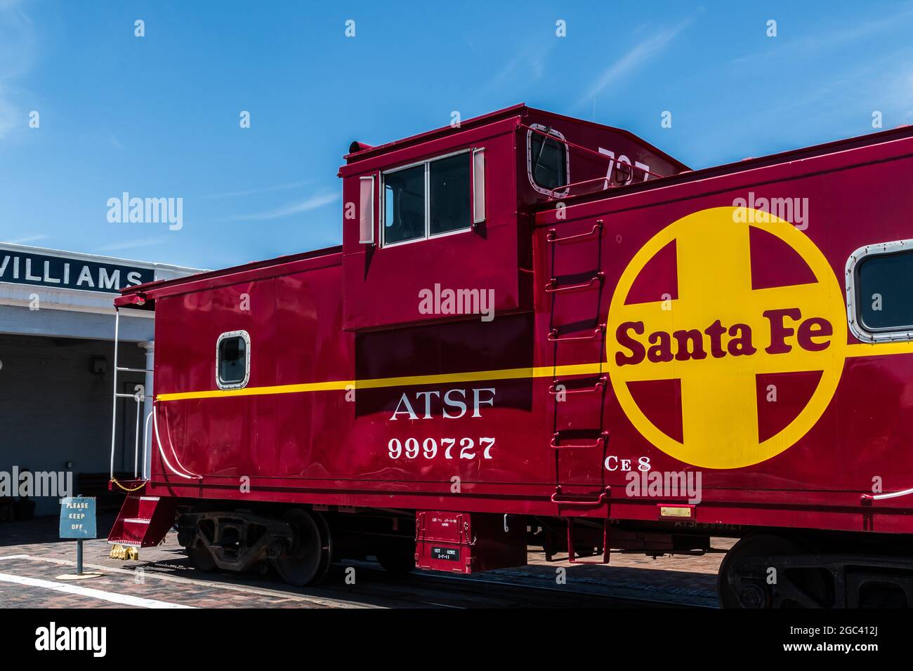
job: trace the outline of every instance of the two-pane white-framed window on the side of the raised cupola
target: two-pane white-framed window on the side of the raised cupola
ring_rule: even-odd
[[[383,173],[383,246],[470,230],[472,170],[473,153],[464,150]]]

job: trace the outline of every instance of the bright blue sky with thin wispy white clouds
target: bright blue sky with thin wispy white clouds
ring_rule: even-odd
[[[338,244],[352,140],[521,101],[691,167],[913,122],[913,4],[568,5],[0,0],[0,240],[191,267]],[[183,228],[109,223],[125,191],[183,198]]]

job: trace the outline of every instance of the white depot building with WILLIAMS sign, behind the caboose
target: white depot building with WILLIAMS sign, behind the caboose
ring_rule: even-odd
[[[0,471],[72,471],[74,495],[100,494],[109,477],[113,300],[125,286],[196,272],[0,243]],[[121,367],[152,370],[153,317],[121,311]],[[118,375],[121,393],[137,384],[152,395],[151,374]],[[132,476],[136,404],[119,405],[114,468]],[[150,410],[147,402],[142,417]],[[58,513],[57,499],[36,503],[38,515]]]

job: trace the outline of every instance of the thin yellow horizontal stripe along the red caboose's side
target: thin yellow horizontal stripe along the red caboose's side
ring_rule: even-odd
[[[847,358],[913,354],[913,342],[857,343],[847,346]],[[160,393],[159,401],[184,401],[194,398],[223,398],[225,396],[263,396],[273,393],[333,392],[347,389],[383,389],[420,384],[450,384],[485,382],[487,380],[522,380],[539,377],[593,375],[605,371],[606,363],[575,363],[566,366],[536,366],[505,368],[499,371],[445,372],[437,375],[406,375],[371,380],[333,380],[325,383],[279,384],[271,387],[243,389],[213,389],[205,392]]]

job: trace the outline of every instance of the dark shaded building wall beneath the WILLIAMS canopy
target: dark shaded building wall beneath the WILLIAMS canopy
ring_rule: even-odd
[[[121,366],[146,367],[145,351],[135,342],[121,341],[120,350]],[[91,372],[93,357],[105,358],[107,372]],[[72,462],[74,488],[79,473],[107,477],[113,368],[113,341],[0,334],[0,470],[64,471]],[[121,391],[132,392],[136,383],[144,383],[142,373],[119,375]],[[135,405],[130,399],[124,404],[130,412],[119,420],[121,454],[114,468],[132,471]],[[37,515],[59,512],[57,499],[36,502]]]

